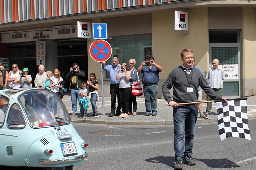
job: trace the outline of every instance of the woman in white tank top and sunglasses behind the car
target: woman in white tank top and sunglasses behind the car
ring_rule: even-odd
[[[12,71],[9,72],[7,81],[11,88],[20,88],[22,84],[20,71],[17,64],[12,64]]]

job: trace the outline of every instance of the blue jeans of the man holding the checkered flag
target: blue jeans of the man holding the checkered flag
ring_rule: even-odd
[[[177,157],[184,159],[184,155],[192,153],[196,119],[197,104],[173,108],[175,160]],[[185,152],[183,152],[184,133]]]

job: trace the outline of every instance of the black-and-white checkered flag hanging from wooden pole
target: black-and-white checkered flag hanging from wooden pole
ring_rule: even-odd
[[[228,102],[215,101],[221,141],[229,137],[251,140],[246,100],[247,98],[228,99]]]

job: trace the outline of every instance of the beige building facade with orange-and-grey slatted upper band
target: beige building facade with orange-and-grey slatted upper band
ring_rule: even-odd
[[[255,68],[251,66],[256,45],[256,2],[246,0],[0,0],[0,58],[8,66],[17,63],[37,73],[37,44],[45,40],[46,70],[58,67],[65,77],[73,62],[100,82],[100,63],[89,54],[94,39],[77,38],[77,21],[107,23],[112,57],[121,62],[148,55],[169,72],[181,65],[180,52],[191,48],[204,75],[212,60],[226,71],[223,96],[256,95]],[[188,12],[188,30],[174,30],[174,11]],[[91,33],[92,35],[92,33]],[[42,57],[42,56],[41,56]],[[0,60],[1,60],[0,59]],[[39,63],[38,63],[39,62]],[[109,59],[108,64],[112,61]],[[109,96],[109,74],[104,73],[104,96]],[[101,87],[101,85],[100,85]],[[101,90],[99,89],[99,92]]]

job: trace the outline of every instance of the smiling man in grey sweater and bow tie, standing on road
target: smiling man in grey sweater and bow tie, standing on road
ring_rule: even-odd
[[[184,49],[180,53],[183,64],[174,68],[164,81],[162,92],[164,99],[173,107],[173,125],[174,125],[174,152],[175,167],[182,169],[183,162],[187,165],[196,165],[191,157],[194,129],[197,119],[197,104],[178,105],[178,103],[197,102],[198,86],[214,100],[225,100],[205,81],[203,74],[194,69],[193,52],[191,49]],[[169,89],[173,86],[173,96],[171,97]],[[185,135],[185,151],[183,147],[183,138]],[[184,152],[183,152],[184,151]]]

